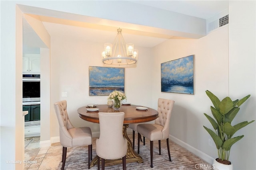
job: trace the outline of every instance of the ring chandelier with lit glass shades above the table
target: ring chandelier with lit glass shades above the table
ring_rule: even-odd
[[[102,52],[102,62],[112,65],[136,64],[138,60],[138,50],[134,49],[133,43],[125,43],[122,36],[122,29],[117,29],[114,43],[104,43]]]

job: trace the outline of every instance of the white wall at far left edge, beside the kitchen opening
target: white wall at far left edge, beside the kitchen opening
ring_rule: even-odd
[[[19,64],[22,63],[22,46],[18,46],[22,43],[22,25],[20,25],[22,16],[14,4],[8,6],[7,2],[2,1],[1,14],[5,14],[6,17],[1,15],[0,169],[22,169],[22,164],[6,163],[6,161],[16,159],[22,160],[24,155],[22,149],[16,150],[24,147],[22,145],[22,140],[24,140],[24,135],[22,135],[22,127],[24,128],[22,124],[24,120],[22,117],[22,81],[16,83],[16,80],[22,80],[22,64]],[[20,98],[16,98],[16,95]]]

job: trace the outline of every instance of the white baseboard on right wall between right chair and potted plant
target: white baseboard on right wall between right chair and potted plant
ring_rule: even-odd
[[[172,140],[174,143],[180,145],[181,147],[189,150],[190,152],[192,152],[193,154],[195,154],[196,156],[198,156],[199,158],[201,158],[202,160],[208,162],[209,164],[213,163],[214,158],[212,158],[211,156],[209,156],[208,154],[188,145],[187,143],[181,141],[180,139],[169,135],[169,139]]]

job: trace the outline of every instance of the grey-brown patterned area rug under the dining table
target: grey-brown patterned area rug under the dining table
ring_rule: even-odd
[[[132,141],[132,134],[128,134],[129,139]],[[92,141],[92,157],[96,156],[96,138]],[[135,136],[135,151],[137,152],[137,135]],[[140,156],[143,163],[127,163],[127,170],[210,170],[212,165],[208,164],[198,156],[192,154],[188,150],[180,147],[174,142],[169,140],[170,154],[172,162],[169,161],[166,140],[161,141],[161,155],[158,151],[158,141],[154,141],[153,147],[153,168],[150,167],[150,141],[146,139],[146,145],[140,142]],[[201,165],[201,167],[200,167]],[[62,167],[60,162],[58,169]],[[85,170],[88,169],[88,147],[73,147],[68,148],[67,158],[65,164],[66,170]],[[97,164],[90,168],[97,170]],[[100,167],[101,169],[101,167]],[[106,166],[106,170],[122,170],[122,164]]]

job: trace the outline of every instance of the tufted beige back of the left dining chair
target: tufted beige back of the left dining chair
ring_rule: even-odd
[[[74,127],[68,118],[67,101],[56,102],[54,109],[60,126],[60,144],[65,147],[72,147],[72,136],[68,130]]]

